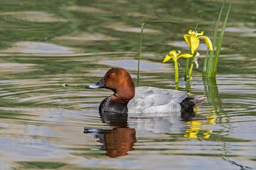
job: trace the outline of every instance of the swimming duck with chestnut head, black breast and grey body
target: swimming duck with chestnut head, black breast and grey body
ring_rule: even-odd
[[[189,91],[176,91],[149,86],[136,87],[125,68],[114,67],[104,77],[86,89],[106,88],[114,92],[99,105],[104,113],[169,113],[193,111],[193,108],[206,100],[204,95],[188,94]]]

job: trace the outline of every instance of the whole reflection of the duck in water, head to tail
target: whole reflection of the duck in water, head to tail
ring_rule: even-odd
[[[178,116],[180,119],[180,122],[182,122],[183,125],[187,121],[191,120],[204,120],[206,119],[204,116],[202,116],[199,113],[195,112],[179,112],[181,113],[181,116]],[[145,127],[140,127],[140,125],[128,125],[128,122],[131,124],[134,124],[134,122],[144,122],[145,124],[152,125],[152,121],[156,124],[160,120],[161,127],[158,130],[157,128],[159,126],[155,126],[155,130],[153,132],[158,133],[172,133],[172,124],[169,122],[169,119],[166,119],[169,123],[162,124],[165,120],[163,120],[161,117],[148,117],[148,118],[135,118],[135,117],[129,117],[128,113],[115,113],[115,112],[104,112],[100,111],[99,115],[101,116],[102,122],[106,124],[107,127],[112,127],[113,129],[103,129],[103,128],[88,128],[84,127],[84,133],[88,133],[90,135],[93,135],[98,142],[102,143],[101,150],[105,150],[106,156],[109,157],[118,157],[118,156],[125,156],[128,155],[128,151],[134,150],[134,145],[137,142],[136,139],[136,130],[140,132],[150,132],[148,129],[145,129],[148,127],[147,125]],[[151,121],[149,121],[151,120]],[[167,126],[167,127],[162,127]],[[135,128],[131,128],[135,127]],[[182,126],[180,126],[181,128]],[[176,129],[179,129],[179,127],[175,127]],[[136,130],[135,130],[136,129]],[[169,129],[167,131],[163,131],[163,129]],[[175,130],[176,133],[177,130]],[[151,131],[152,132],[152,131]],[[185,133],[185,131],[182,130],[182,133]]]

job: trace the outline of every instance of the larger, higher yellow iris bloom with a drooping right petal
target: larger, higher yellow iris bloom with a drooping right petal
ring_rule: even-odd
[[[204,36],[204,31],[198,33],[197,31],[189,30],[189,34],[184,35],[184,39],[186,43],[188,43],[189,48],[191,49],[191,54],[194,54],[195,50],[198,48],[199,45],[199,38],[204,38],[205,43],[209,47],[211,51],[212,49],[212,41],[207,37]]]

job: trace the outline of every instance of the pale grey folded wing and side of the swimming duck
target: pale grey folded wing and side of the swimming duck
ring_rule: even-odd
[[[135,88],[135,97],[128,103],[129,112],[179,111],[180,103],[186,99],[187,91],[175,91],[154,87]],[[158,107],[157,107],[158,106]],[[160,110],[159,110],[160,109]]]

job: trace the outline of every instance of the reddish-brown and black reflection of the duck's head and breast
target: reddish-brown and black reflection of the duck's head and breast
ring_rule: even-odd
[[[125,156],[128,151],[134,150],[136,130],[128,128],[127,113],[100,112],[102,122],[113,129],[84,128],[84,133],[94,135],[102,143],[102,150],[106,156]]]

